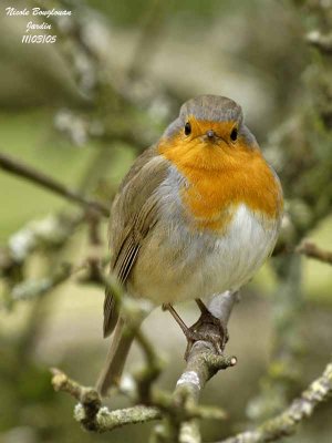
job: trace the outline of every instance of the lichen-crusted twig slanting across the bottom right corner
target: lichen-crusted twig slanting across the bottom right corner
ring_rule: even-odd
[[[266,443],[294,434],[298,424],[310,418],[315,408],[332,395],[332,362],[323,374],[293,400],[291,405],[274,419],[266,421],[252,431],[247,431],[219,443]]]

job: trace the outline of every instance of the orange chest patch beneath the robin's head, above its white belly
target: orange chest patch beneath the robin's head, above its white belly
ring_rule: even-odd
[[[232,165],[221,171],[187,168],[180,197],[194,225],[225,231],[240,205],[259,217],[278,219],[282,192],[273,172],[258,158],[249,167]]]

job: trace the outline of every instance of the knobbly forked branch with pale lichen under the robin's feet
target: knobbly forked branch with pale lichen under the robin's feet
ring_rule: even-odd
[[[97,267],[97,278],[101,279],[106,286],[112,286],[117,296],[122,293],[122,288],[106,276]],[[112,277],[112,276],[111,276]],[[230,302],[232,300],[232,302]],[[221,303],[225,308],[231,309],[235,298],[229,298],[226,303]],[[133,301],[134,302],[134,301]],[[137,305],[137,302],[136,302]],[[220,306],[221,306],[220,305]],[[144,309],[143,307],[132,306],[132,303],[124,303],[122,300],[122,309],[135,324],[135,316],[137,310]],[[226,320],[229,313],[220,315],[220,318]],[[203,323],[198,331],[200,333],[209,332],[210,334],[220,333],[220,328],[212,323]],[[169,429],[176,439],[179,436],[180,442],[185,442],[184,435],[199,435],[197,419],[225,419],[225,412],[218,408],[208,408],[198,405],[200,391],[205,383],[220,369],[229,368],[236,364],[235,358],[227,358],[215,353],[214,346],[209,341],[197,341],[194,343],[187,360],[186,370],[180,377],[174,395],[155,390],[151,392],[152,382],[156,379],[160,371],[160,362],[156,357],[151,343],[139,332],[135,331],[135,337],[144,350],[147,365],[151,368],[143,370],[141,377],[136,377],[136,392],[138,393],[138,401],[147,401],[148,405],[135,405],[117,411],[108,411],[101,402],[101,398],[93,388],[81,387],[79,383],[69,379],[63,372],[52,370],[52,383],[56,391],[65,391],[79,400],[75,408],[74,416],[86,430],[95,432],[112,431],[115,427],[131,424],[141,423],[151,420],[167,418],[166,422],[169,423]],[[136,398],[137,401],[137,398]],[[169,436],[170,434],[168,434]],[[167,441],[167,440],[165,440]],[[177,440],[176,440],[177,441]],[[198,441],[198,440],[197,440]],[[196,442],[196,440],[195,440]]]

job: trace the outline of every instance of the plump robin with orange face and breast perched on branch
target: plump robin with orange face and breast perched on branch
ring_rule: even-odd
[[[282,206],[278,176],[241,107],[224,96],[191,99],[120,187],[111,270],[128,295],[173,313],[173,303],[235,291],[271,255]],[[115,332],[97,382],[102,394],[118,383],[133,341],[125,322],[106,293],[104,337]]]

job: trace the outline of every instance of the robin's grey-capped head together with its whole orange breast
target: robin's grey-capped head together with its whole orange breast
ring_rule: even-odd
[[[230,99],[203,95],[186,102],[157,150],[186,178],[180,196],[200,227],[225,229],[228,210],[239,204],[272,218],[282,210],[276,175]]]

